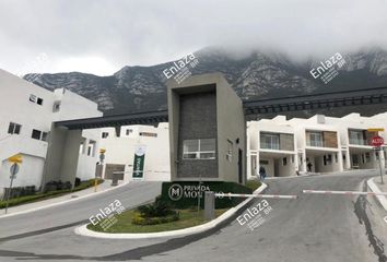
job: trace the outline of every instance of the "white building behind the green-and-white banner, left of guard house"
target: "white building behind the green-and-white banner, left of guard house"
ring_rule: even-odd
[[[105,178],[110,178],[114,171],[124,172],[125,180],[132,180],[134,150],[145,146],[144,180],[171,180],[169,133],[168,123],[159,126],[121,127],[117,135],[116,129],[102,130],[101,146],[105,153]]]

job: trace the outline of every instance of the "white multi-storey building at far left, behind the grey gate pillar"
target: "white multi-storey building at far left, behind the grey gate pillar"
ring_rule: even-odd
[[[101,117],[97,105],[63,88],[47,91],[0,69],[0,194],[10,184],[10,156],[22,154],[23,163],[13,187],[45,182],[44,169],[54,121]],[[82,132],[86,150],[80,154],[77,176],[95,175],[99,131]],[[64,181],[63,181],[64,182]],[[71,181],[73,184],[73,181]]]

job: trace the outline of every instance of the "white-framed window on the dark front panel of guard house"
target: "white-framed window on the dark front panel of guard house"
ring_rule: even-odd
[[[215,139],[183,141],[183,159],[215,159]]]

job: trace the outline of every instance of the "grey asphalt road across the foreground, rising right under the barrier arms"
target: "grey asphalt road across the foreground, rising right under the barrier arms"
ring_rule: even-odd
[[[268,180],[267,193],[365,190],[364,181],[373,175]],[[269,204],[272,211],[255,230],[234,218],[206,234],[134,241],[80,237],[71,227],[5,239],[0,242],[0,261],[387,261],[387,224],[383,221],[387,214],[373,196],[303,194],[298,200],[269,200]],[[2,234],[7,225],[0,223]],[[12,228],[5,228],[5,235],[17,231]]]

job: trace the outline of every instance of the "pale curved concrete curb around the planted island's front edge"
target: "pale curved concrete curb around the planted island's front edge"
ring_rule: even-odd
[[[256,191],[254,191],[254,193],[260,193],[267,187],[268,186],[266,183],[262,183]],[[105,238],[105,239],[146,239],[146,238],[162,238],[162,237],[181,237],[181,236],[203,233],[203,231],[214,228],[215,226],[218,226],[222,222],[232,217],[238,210],[241,210],[243,206],[245,206],[253,199],[254,198],[246,199],[245,201],[239,203],[237,206],[230,209],[224,214],[222,214],[221,216],[219,216],[218,218],[215,218],[209,223],[206,223],[206,224],[199,225],[199,226],[195,226],[195,227],[185,228],[185,229],[164,231],[164,233],[110,234],[110,233],[96,233],[96,231],[90,230],[90,229],[87,229],[89,224],[85,224],[80,227],[77,227],[74,229],[74,233],[77,235],[84,236],[84,237]]]

